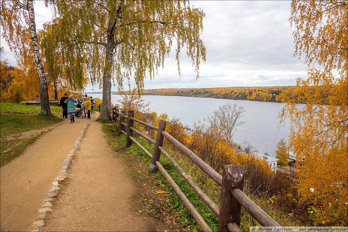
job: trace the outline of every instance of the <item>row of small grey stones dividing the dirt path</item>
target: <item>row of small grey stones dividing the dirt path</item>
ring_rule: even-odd
[[[62,123],[61,123],[62,124]],[[59,124],[59,125],[61,125]],[[61,182],[64,182],[66,179],[68,179],[68,172],[66,171],[71,163],[71,160],[73,159],[74,156],[74,152],[76,149],[78,149],[81,139],[84,137],[85,134],[85,130],[88,127],[89,123],[86,124],[86,126],[81,130],[80,136],[76,139],[76,142],[74,143],[74,145],[72,146],[72,149],[69,151],[69,154],[66,156],[66,159],[63,161],[63,167],[61,170],[61,174],[59,176],[57,176],[53,183],[52,183],[52,187],[49,189],[49,193],[46,195],[46,199],[44,199],[42,201],[42,203],[44,203],[44,205],[42,205],[42,208],[39,209],[39,220],[34,221],[33,222],[33,227],[43,227],[45,226],[45,221],[44,219],[46,218],[46,213],[47,212],[52,212],[52,209],[50,207],[52,207],[52,202],[54,201],[55,198],[58,197],[58,194],[56,193],[56,191],[60,190],[60,187],[58,187],[60,185]],[[56,125],[58,126],[58,125]],[[53,127],[51,127],[50,129],[52,129]],[[46,130],[47,131],[47,130]],[[39,231],[39,229],[35,229],[34,231]]]

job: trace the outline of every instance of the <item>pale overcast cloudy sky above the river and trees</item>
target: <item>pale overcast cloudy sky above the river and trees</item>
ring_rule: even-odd
[[[179,77],[174,47],[165,59],[164,69],[158,70],[154,80],[145,80],[145,89],[284,86],[296,85],[296,78],[306,78],[304,60],[293,57],[290,1],[190,2],[206,14],[201,35],[207,49],[206,63],[201,63],[199,80],[196,81],[185,48]],[[52,19],[52,12],[44,1],[36,0],[34,9],[39,30]],[[5,47],[4,58],[15,66],[16,59],[6,41],[1,37],[0,42]],[[92,86],[88,85],[86,91],[92,91]],[[99,91],[98,87],[94,91]]]

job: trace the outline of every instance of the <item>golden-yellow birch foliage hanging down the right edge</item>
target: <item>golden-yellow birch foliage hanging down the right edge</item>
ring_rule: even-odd
[[[280,116],[292,123],[289,144],[296,153],[300,203],[317,209],[311,210],[315,224],[325,218],[326,225],[347,225],[348,3],[292,1],[291,7],[295,54],[304,53],[309,67],[323,67],[309,69],[306,80],[297,80],[300,88],[281,94],[286,106]],[[296,107],[299,101],[306,106]]]

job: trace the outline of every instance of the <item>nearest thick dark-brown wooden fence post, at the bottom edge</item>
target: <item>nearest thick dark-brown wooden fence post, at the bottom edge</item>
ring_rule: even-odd
[[[225,165],[222,172],[219,223],[217,231],[228,231],[230,222],[240,224],[240,210],[242,206],[232,197],[231,190],[239,188],[243,191],[244,165]]]

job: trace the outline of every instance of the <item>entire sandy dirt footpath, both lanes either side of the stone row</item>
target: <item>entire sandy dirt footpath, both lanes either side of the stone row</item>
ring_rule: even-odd
[[[96,115],[94,115],[96,116]],[[94,117],[95,119],[95,117]],[[45,226],[32,227],[52,182],[82,128],[89,123],[52,202]],[[55,127],[1,168],[1,231],[164,231],[166,224],[136,214],[134,183],[106,143],[102,124],[70,120]]]

